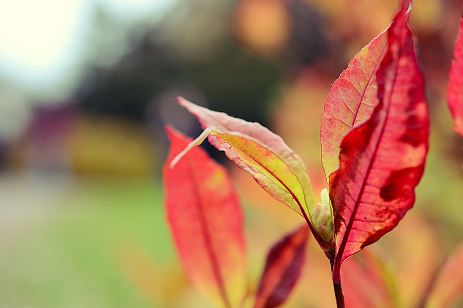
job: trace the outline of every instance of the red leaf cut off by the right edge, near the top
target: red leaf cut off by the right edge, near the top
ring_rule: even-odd
[[[447,103],[453,117],[453,130],[463,137],[463,18],[450,67]]]

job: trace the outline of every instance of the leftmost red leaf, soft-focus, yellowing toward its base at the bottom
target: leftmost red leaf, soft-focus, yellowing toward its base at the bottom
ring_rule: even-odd
[[[180,261],[191,284],[215,306],[239,307],[246,288],[243,213],[224,167],[200,147],[174,168],[190,139],[166,128],[171,141],[163,177],[166,211]]]

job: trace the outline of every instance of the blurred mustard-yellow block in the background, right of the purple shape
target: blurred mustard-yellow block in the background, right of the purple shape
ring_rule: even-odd
[[[70,156],[77,173],[148,176],[155,166],[154,152],[141,124],[82,115],[76,121]]]

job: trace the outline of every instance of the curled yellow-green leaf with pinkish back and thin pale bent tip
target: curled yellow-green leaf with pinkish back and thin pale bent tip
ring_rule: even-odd
[[[281,137],[259,123],[211,111],[183,98],[177,98],[177,101],[195,115],[205,129],[182,155],[207,137],[213,146],[225,151],[226,156],[237,166],[251,172],[256,182],[271,196],[304,217],[325,251],[332,247],[331,241],[324,240],[313,227],[317,225],[312,216],[315,204],[306,167]]]

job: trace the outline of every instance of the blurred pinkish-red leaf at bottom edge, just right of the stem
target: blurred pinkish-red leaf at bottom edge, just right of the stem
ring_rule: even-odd
[[[394,292],[390,273],[368,249],[349,258],[342,268],[344,296],[347,308],[391,308]]]

